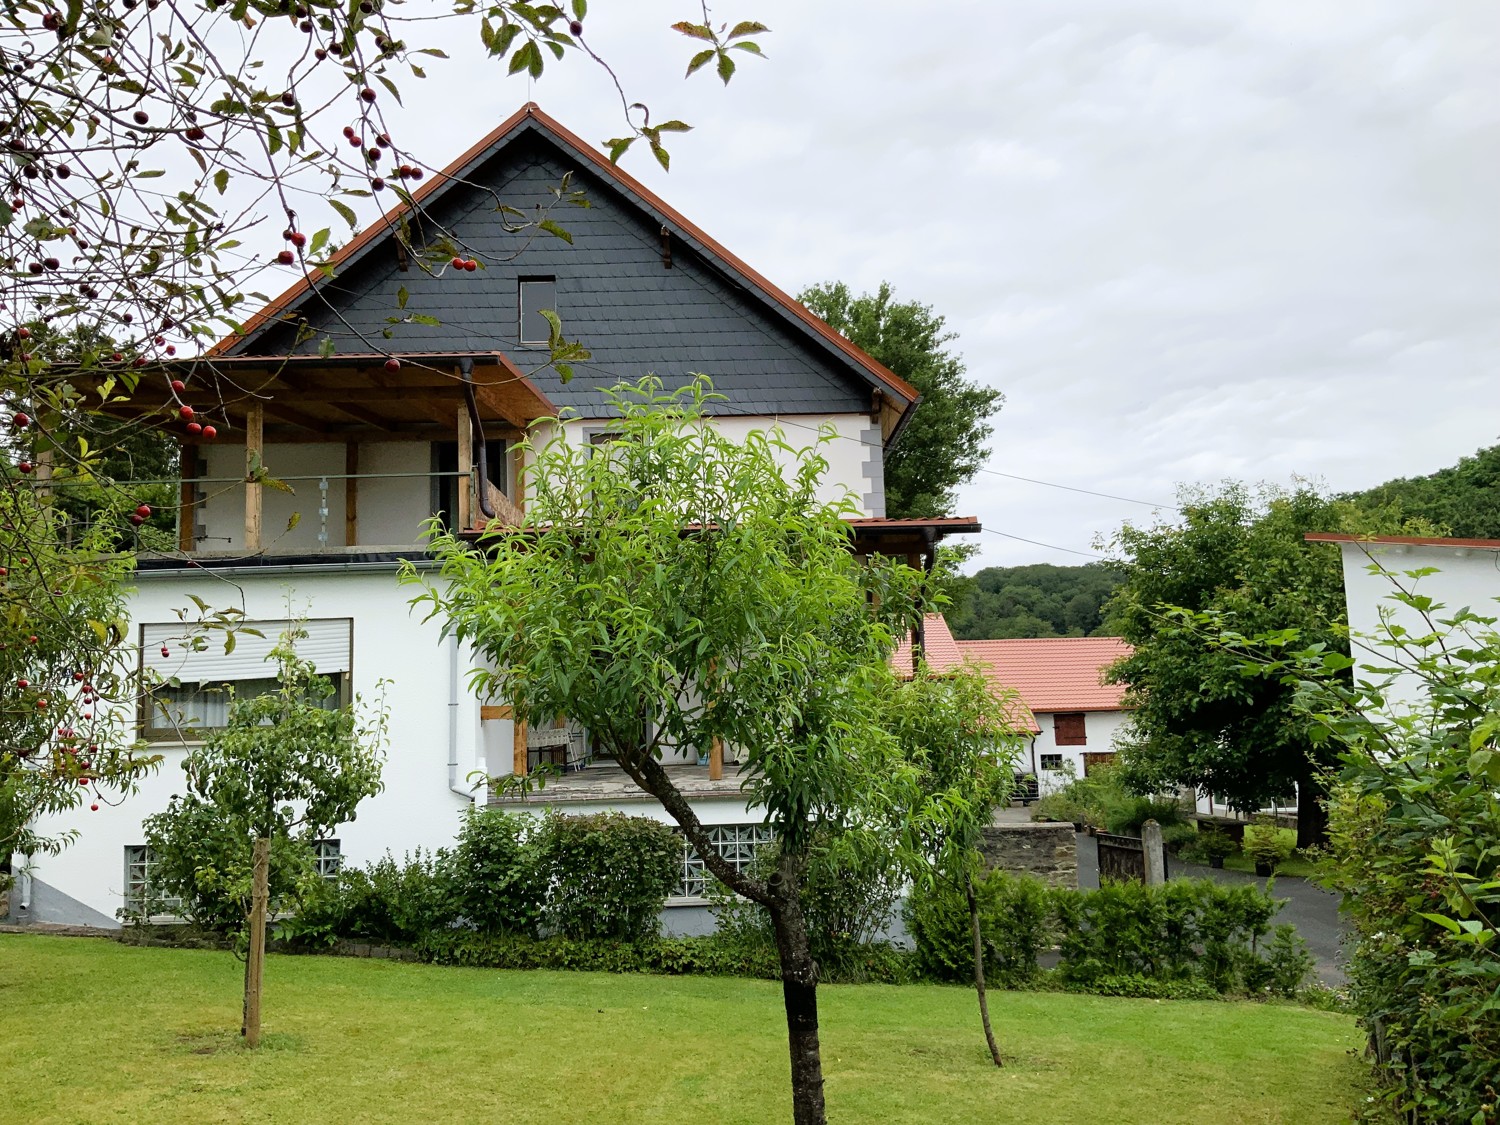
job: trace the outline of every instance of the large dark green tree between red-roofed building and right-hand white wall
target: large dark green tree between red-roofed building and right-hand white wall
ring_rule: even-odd
[[[1128,782],[1191,786],[1246,810],[1296,789],[1298,843],[1318,843],[1332,756],[1294,714],[1292,690],[1246,680],[1234,654],[1162,610],[1220,612],[1246,634],[1299,628],[1347,652],[1338,560],[1304,536],[1372,528],[1353,506],[1305,486],[1256,495],[1227,484],[1182,500],[1180,524],[1126,524],[1113,542],[1125,578],[1106,612],[1134,646],[1110,670],[1131,708]]]

